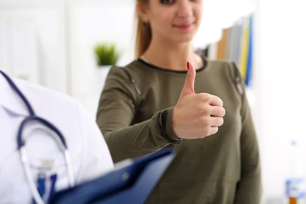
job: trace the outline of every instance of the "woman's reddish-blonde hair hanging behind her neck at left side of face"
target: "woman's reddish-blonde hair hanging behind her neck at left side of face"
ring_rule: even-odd
[[[148,5],[149,0],[137,0],[139,4],[143,5]],[[136,28],[136,59],[138,59],[144,52],[145,50],[149,47],[151,39],[152,39],[152,34],[151,34],[151,27],[149,23],[146,23],[142,20],[137,4],[136,4],[136,10],[135,10],[135,18],[136,18],[136,23],[137,23],[137,28]]]

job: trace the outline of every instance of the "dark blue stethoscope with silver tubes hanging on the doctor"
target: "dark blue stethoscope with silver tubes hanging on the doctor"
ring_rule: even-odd
[[[20,124],[19,126],[19,130],[17,133],[17,144],[18,144],[18,149],[20,151],[20,159],[21,162],[23,164],[23,168],[24,168],[24,172],[25,172],[25,176],[27,177],[29,186],[31,188],[33,197],[34,197],[34,201],[37,204],[43,204],[43,199],[42,199],[42,194],[44,193],[45,187],[44,187],[44,177],[43,176],[38,176],[38,188],[36,188],[36,184],[35,181],[33,179],[31,170],[30,170],[30,165],[29,165],[29,161],[28,161],[28,156],[27,156],[27,152],[25,151],[25,146],[24,146],[24,140],[22,139],[22,131],[24,129],[24,126],[30,122],[30,121],[38,121],[44,125],[46,125],[50,130],[54,131],[57,135],[59,140],[58,143],[61,146],[63,152],[64,152],[64,156],[65,156],[65,162],[66,162],[66,168],[67,168],[67,174],[68,174],[68,179],[69,179],[69,186],[73,187],[74,186],[74,179],[73,179],[73,171],[72,171],[72,165],[71,165],[71,160],[70,160],[70,153],[65,141],[64,136],[62,135],[62,133],[50,122],[48,122],[47,120],[40,118],[38,116],[35,115],[35,112],[32,108],[32,106],[30,105],[29,101],[27,100],[27,98],[25,98],[25,96],[21,93],[21,91],[17,88],[17,86],[14,84],[14,82],[8,77],[7,74],[5,74],[3,71],[0,70],[0,73],[4,76],[4,78],[8,81],[9,85],[11,86],[11,88],[19,95],[19,97],[23,100],[25,106],[27,106],[30,116],[26,117]],[[56,181],[56,174],[52,175],[52,187],[51,190],[52,192],[50,194],[53,193],[54,191],[54,186],[55,186],[55,181]]]

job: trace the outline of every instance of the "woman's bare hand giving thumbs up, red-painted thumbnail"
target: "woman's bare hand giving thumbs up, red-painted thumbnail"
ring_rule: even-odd
[[[223,101],[208,93],[194,93],[195,68],[187,62],[187,77],[173,109],[172,128],[177,138],[204,138],[218,132],[223,124]]]

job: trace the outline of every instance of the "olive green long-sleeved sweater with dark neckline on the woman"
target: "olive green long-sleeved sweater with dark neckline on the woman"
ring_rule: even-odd
[[[142,60],[110,69],[97,124],[114,162],[166,146],[176,150],[146,203],[260,203],[259,147],[247,98],[239,91],[244,86],[237,86],[233,64],[205,60],[205,65],[196,72],[194,91],[219,96],[226,114],[215,135],[193,140],[177,139],[172,130],[173,107],[187,71],[161,69]]]

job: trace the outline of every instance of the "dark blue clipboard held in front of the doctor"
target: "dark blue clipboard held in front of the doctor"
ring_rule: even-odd
[[[173,149],[161,149],[93,181],[59,191],[48,203],[144,203],[173,158]]]

